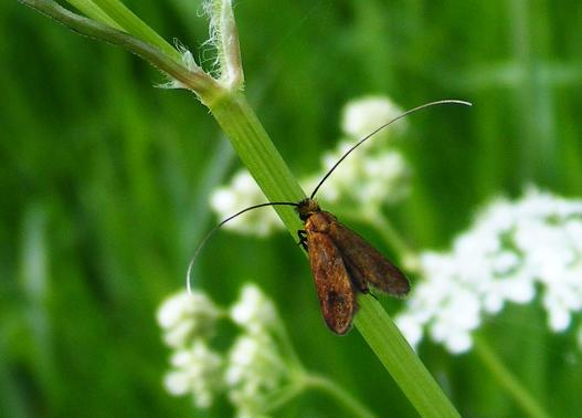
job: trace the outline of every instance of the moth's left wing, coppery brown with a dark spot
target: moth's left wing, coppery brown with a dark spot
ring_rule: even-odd
[[[307,232],[307,249],[324,320],[332,332],[343,335],[358,305],[341,252],[329,236],[315,231]]]

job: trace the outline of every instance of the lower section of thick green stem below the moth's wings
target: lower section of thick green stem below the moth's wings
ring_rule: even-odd
[[[422,417],[459,417],[453,404],[373,297],[359,299],[358,331]]]

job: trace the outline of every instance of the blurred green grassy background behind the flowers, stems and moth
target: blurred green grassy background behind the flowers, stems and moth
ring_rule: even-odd
[[[208,56],[199,1],[126,3]],[[389,215],[415,248],[446,248],[478,205],[528,184],[580,196],[582,3],[246,0],[235,13],[250,101],[298,176],[334,147],[352,98],[474,103],[409,119],[413,195]],[[136,56],[13,1],[0,2],[0,416],[227,416],[166,394],[155,312],[216,222],[209,192],[240,168],[229,143],[192,94],[155,88],[163,77]],[[223,232],[205,254],[198,273],[216,301],[257,282],[310,369],[372,410],[414,416],[357,332],[326,330],[287,234]],[[483,332],[547,409],[572,416],[573,337],[549,335],[533,306],[502,318]],[[425,344],[421,355],[464,416],[519,416],[473,354]],[[335,414],[313,393],[276,416]]]

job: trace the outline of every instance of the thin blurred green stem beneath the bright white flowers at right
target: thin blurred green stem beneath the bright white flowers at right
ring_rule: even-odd
[[[536,401],[536,398],[519,383],[514,374],[504,365],[485,339],[475,337],[474,351],[479,356],[489,373],[499,385],[507,389],[517,405],[529,417],[548,418],[550,415]]]

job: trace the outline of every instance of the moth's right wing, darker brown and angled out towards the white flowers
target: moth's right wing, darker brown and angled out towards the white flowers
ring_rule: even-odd
[[[368,290],[367,284],[370,283],[393,296],[409,293],[410,283],[404,273],[363,238],[337,221],[329,226],[328,233],[362,292]]]

